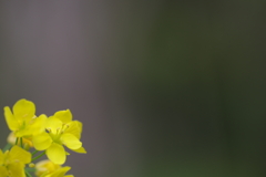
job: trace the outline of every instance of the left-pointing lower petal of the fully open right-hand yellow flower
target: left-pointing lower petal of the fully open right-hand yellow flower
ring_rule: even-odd
[[[35,149],[44,150],[51,146],[52,138],[49,136],[48,133],[44,132],[44,133],[34,135],[32,137],[32,143]]]

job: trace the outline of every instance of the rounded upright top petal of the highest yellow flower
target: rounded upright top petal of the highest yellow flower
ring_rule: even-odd
[[[24,98],[19,100],[13,105],[13,115],[16,118],[21,118],[24,121],[30,121],[35,115],[34,103],[27,101]]]

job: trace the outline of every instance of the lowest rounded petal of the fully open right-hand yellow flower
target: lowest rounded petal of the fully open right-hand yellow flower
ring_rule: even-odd
[[[52,143],[52,145],[47,149],[48,158],[54,164],[64,164],[66,155],[62,145]]]

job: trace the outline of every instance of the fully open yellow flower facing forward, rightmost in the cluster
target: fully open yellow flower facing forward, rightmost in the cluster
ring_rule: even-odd
[[[34,135],[32,143],[35,149],[45,150],[51,162],[55,164],[65,162],[68,153],[64,150],[64,146],[76,153],[86,153],[80,142],[82,123],[72,121],[72,114],[69,110],[57,112],[49,117],[45,131]]]

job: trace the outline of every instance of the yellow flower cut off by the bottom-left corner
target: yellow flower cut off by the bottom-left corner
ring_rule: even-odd
[[[0,149],[0,177],[25,177],[24,165],[31,162],[31,154],[19,146],[10,150]]]

